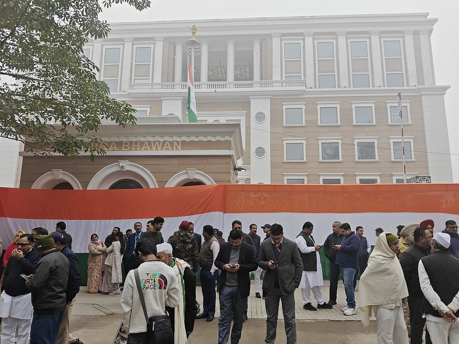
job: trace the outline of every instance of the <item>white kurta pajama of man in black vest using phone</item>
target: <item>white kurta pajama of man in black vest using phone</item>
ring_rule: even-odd
[[[311,238],[311,236],[309,236],[309,238]],[[315,244],[314,239],[311,238],[311,240]],[[297,243],[298,249],[302,253],[311,253],[315,251],[317,255],[317,271],[303,271],[301,278],[300,288],[303,296],[303,305],[311,303],[311,290],[313,291],[314,299],[321,305],[324,303],[324,298],[322,297],[320,287],[324,285],[324,277],[322,275],[322,264],[320,263],[319,251],[316,251],[314,246],[308,247],[306,240],[302,236],[295,239],[295,243]]]

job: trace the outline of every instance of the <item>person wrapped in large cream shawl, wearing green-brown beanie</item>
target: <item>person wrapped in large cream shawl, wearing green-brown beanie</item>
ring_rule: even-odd
[[[409,344],[402,309],[408,288],[395,254],[397,244],[394,234],[380,234],[358,287],[357,314],[367,327],[373,310],[378,344]]]

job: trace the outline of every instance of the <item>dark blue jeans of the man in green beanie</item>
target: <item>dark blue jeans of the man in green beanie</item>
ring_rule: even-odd
[[[56,344],[64,312],[34,314],[30,327],[30,344]]]

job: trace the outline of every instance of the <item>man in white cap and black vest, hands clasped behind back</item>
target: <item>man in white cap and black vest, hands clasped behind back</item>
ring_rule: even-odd
[[[421,258],[419,282],[433,344],[459,344],[459,259],[449,254],[450,236],[435,233],[432,255]]]

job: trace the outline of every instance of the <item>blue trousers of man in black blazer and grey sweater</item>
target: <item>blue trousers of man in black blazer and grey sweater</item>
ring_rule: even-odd
[[[237,344],[239,343],[239,339],[241,339],[244,308],[247,304],[247,298],[242,297],[239,286],[228,287],[224,285],[218,292],[218,300],[220,301],[218,344],[228,343],[231,320],[233,321],[231,344]]]

